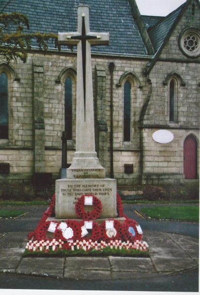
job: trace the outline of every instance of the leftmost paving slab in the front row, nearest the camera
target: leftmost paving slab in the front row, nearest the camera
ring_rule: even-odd
[[[49,277],[63,277],[63,269],[62,268],[38,268],[38,267],[29,267],[20,266],[18,267],[16,273],[24,274],[24,275],[38,275],[38,276],[49,276]]]

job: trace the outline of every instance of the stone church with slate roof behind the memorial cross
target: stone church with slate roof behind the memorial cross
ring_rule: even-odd
[[[7,4],[7,5],[6,5]],[[29,18],[29,32],[77,31],[77,5],[90,31],[95,146],[118,185],[199,180],[200,1],[166,17],[143,16],[136,0],[2,0]],[[77,51],[33,47],[26,63],[0,59],[0,183],[59,178],[62,131],[67,165],[76,150]],[[166,143],[160,137],[166,134]],[[158,133],[157,133],[158,134]],[[85,139],[87,141],[87,138]]]

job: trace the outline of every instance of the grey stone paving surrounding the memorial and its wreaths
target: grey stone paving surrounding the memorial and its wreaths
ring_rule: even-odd
[[[199,236],[199,224],[146,220],[134,211],[141,207],[147,205],[124,205],[123,209],[129,218],[141,225],[143,240],[149,244],[150,258],[22,258],[26,238],[47,206],[15,207],[29,215],[0,220],[0,272],[114,281],[169,276],[198,269],[199,240],[196,237]],[[12,210],[13,206],[3,208]]]

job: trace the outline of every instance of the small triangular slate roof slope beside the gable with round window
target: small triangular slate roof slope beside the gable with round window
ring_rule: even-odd
[[[161,19],[154,27],[147,30],[155,52],[157,52],[162,45],[184,5],[185,3],[171,12],[168,16]]]

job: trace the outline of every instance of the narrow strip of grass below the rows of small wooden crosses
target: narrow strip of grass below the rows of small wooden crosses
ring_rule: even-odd
[[[24,257],[71,257],[71,256],[98,256],[98,257],[107,257],[107,256],[119,256],[119,257],[149,257],[149,252],[147,251],[140,251],[140,250],[126,250],[124,248],[120,249],[110,249],[110,248],[104,248],[102,250],[90,250],[85,251],[83,249],[74,251],[72,250],[60,250],[53,251],[52,249],[49,250],[49,252],[43,252],[43,251],[34,251],[30,252],[29,250],[25,250],[23,253]]]

